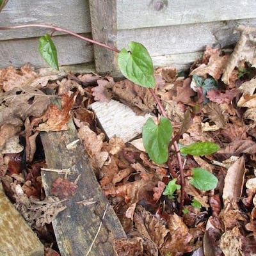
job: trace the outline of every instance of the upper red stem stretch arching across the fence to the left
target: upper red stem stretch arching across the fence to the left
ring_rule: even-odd
[[[64,28],[60,28],[60,27],[56,27],[56,26],[51,26],[51,25],[45,25],[45,24],[24,24],[24,25],[18,25],[18,26],[0,26],[0,30],[6,30],[6,29],[17,29],[17,28],[31,28],[31,27],[38,27],[38,28],[49,28],[49,29],[54,29],[56,31],[61,31],[63,33],[66,33],[66,34],[69,34],[69,35],[72,35],[72,36],[76,36],[77,38],[80,38],[82,40],[85,40],[87,42],[90,42],[92,44],[96,44],[96,45],[99,45],[101,47],[104,47],[106,49],[109,49],[111,51],[114,51],[114,52],[120,52],[118,49],[116,49],[115,47],[111,47],[109,45],[106,45],[106,44],[101,44],[95,40],[92,40],[90,38],[87,38],[85,36],[81,36],[77,33],[74,33],[72,31],[69,31],[67,29],[64,29]]]

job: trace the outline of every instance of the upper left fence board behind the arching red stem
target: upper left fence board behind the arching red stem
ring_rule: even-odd
[[[1,26],[29,23],[49,24],[76,33],[89,33],[91,24],[88,0],[9,0],[0,15]],[[31,38],[45,33],[51,31],[42,28],[6,30],[0,31],[0,40]]]

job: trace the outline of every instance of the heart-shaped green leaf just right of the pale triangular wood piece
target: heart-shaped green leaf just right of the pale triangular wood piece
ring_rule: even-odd
[[[148,156],[157,164],[168,159],[168,145],[172,137],[172,124],[166,117],[161,117],[159,124],[148,118],[143,126],[142,139]]]

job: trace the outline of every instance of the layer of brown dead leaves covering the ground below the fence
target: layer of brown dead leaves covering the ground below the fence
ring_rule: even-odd
[[[55,243],[48,224],[65,210],[65,200],[79,186],[68,177],[59,178],[52,186],[55,196],[45,196],[40,169],[47,166],[38,134],[63,131],[73,118],[102,191],[127,233],[126,239],[114,242],[116,255],[255,255],[256,32],[238,29],[241,38],[232,54],[206,47],[189,75],[173,67],[155,71],[156,93],[179,143],[211,141],[220,147],[212,155],[182,155],[187,178],[180,215],[180,190],[171,197],[163,195],[172,178],[179,182],[172,148],[170,163],[156,164],[145,153],[141,138],[131,143],[118,137],[106,140],[89,108],[95,100],[116,99],[139,115],[156,115],[156,104],[146,88],[126,79],[115,82],[109,76],[50,76],[30,65],[0,70],[1,182],[39,237],[45,239],[48,230],[47,239]],[[195,75],[203,82],[214,79],[217,86],[195,87]],[[51,104],[53,97],[60,98],[60,106]],[[171,177],[170,167],[177,177]],[[192,186],[189,177],[195,168],[214,173],[216,188],[200,191]]]

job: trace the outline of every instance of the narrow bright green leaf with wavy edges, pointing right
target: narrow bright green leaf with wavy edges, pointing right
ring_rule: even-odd
[[[212,154],[219,150],[219,146],[210,141],[195,142],[188,146],[180,148],[182,154],[189,154],[191,156],[204,156]]]

